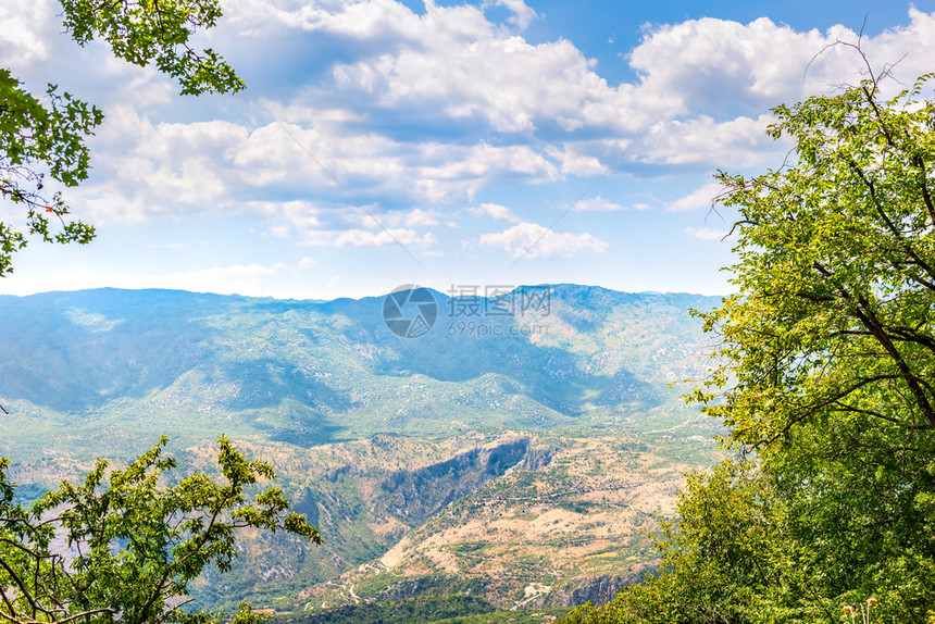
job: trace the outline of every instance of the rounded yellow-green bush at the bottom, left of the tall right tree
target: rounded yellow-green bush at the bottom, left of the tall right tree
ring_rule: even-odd
[[[798,576],[795,550],[770,501],[753,462],[688,475],[678,520],[663,521],[656,538],[661,572],[566,624],[795,622],[801,601],[778,590]]]

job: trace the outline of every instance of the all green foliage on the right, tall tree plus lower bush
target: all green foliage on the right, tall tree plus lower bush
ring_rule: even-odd
[[[867,599],[874,622],[930,621],[932,77],[778,107],[791,162],[719,174],[740,215],[737,295],[701,314],[720,366],[693,398],[750,459],[691,477],[663,573],[579,621],[842,622]]]

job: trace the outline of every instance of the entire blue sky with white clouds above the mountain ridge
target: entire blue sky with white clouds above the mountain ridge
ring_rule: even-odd
[[[196,42],[246,91],[179,96],[0,4],[0,66],[105,114],[65,190],[89,246],[33,240],[0,294],[292,299],[576,283],[732,291],[718,170],[781,166],[771,108],[935,70],[935,0],[222,0]],[[0,204],[0,221],[24,215]],[[465,290],[466,289],[466,290]]]

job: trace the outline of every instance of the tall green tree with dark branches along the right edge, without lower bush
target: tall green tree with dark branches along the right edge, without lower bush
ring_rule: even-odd
[[[875,596],[900,622],[935,599],[932,77],[888,101],[871,74],[780,107],[770,132],[796,162],[719,175],[740,214],[738,294],[702,315],[722,367],[696,395],[756,453],[815,602]]]

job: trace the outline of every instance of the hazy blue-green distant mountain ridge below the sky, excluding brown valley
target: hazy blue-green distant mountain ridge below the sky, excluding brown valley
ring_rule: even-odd
[[[88,416],[105,416],[116,403],[144,416],[158,405],[170,422],[184,415],[205,426],[223,409],[242,414],[238,433],[315,444],[340,437],[340,428],[351,437],[437,430],[432,423],[442,411],[470,426],[601,422],[610,412],[665,403],[666,384],[697,372],[698,323],[687,309],[709,308],[714,298],[544,288],[550,310],[528,322],[526,335],[506,330],[526,323],[516,316],[447,316],[450,299],[435,292],[438,320],[420,338],[387,328],[385,297],[4,296],[0,397],[32,405],[20,410]],[[487,335],[469,333],[472,323]],[[283,405],[294,417],[279,413]],[[146,430],[158,422],[144,416],[141,424]]]

